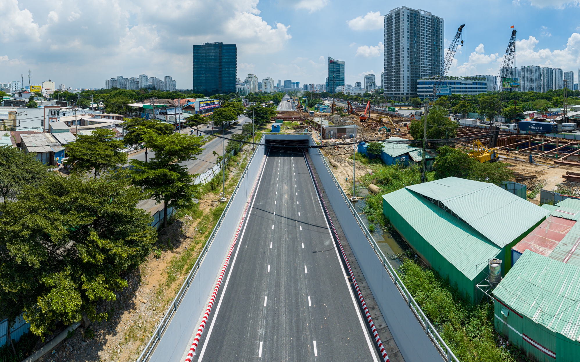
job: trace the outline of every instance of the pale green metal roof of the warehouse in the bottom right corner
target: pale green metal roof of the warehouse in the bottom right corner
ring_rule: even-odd
[[[495,297],[535,323],[580,341],[580,268],[524,251]]]

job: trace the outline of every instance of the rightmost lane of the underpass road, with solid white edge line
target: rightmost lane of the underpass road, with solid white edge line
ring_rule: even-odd
[[[293,167],[296,171],[296,192],[300,239],[311,240],[302,249],[310,277],[310,305],[317,361],[378,361],[379,355],[362,321],[358,303],[346,278],[342,259],[336,250],[306,161],[301,153]],[[295,192],[295,194],[296,194]],[[297,214],[298,214],[297,213]],[[300,227],[301,226],[301,227]]]

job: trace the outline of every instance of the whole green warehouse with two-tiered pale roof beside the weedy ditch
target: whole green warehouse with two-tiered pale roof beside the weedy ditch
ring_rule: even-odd
[[[383,195],[383,213],[423,261],[475,303],[488,260],[502,259],[505,275],[511,247],[549,210],[494,184],[448,177]]]

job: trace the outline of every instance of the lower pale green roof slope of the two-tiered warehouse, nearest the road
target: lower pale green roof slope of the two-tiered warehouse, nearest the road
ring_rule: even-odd
[[[383,195],[383,199],[469,279],[476,277],[476,264],[483,264],[478,270],[481,272],[488,259],[495,258],[501,251],[472,226],[415,192],[400,189]]]

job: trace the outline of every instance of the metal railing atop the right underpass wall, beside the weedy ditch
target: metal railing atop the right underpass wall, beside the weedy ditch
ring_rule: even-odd
[[[318,152],[320,152],[320,149],[318,149]],[[412,312],[414,313],[415,317],[425,330],[426,334],[429,335],[429,337],[434,342],[434,345],[437,347],[439,352],[447,358],[448,362],[451,361],[459,362],[457,357],[455,357],[455,354],[453,354],[453,352],[451,352],[451,349],[447,346],[447,343],[445,343],[445,341],[443,341],[443,338],[441,338],[441,336],[437,333],[437,330],[435,329],[435,327],[433,327],[433,324],[431,324],[427,316],[425,316],[425,313],[423,313],[423,310],[420,308],[415,299],[412,297],[411,293],[407,290],[407,287],[405,287],[403,280],[401,280],[400,277],[397,275],[396,270],[393,268],[393,266],[391,266],[389,260],[385,257],[385,254],[383,254],[383,251],[380,250],[379,246],[376,244],[374,237],[372,237],[371,233],[367,229],[367,226],[365,226],[364,222],[362,222],[360,216],[358,215],[356,209],[353,206],[353,203],[350,202],[348,196],[346,196],[346,193],[340,186],[338,180],[336,180],[336,177],[334,177],[334,174],[332,173],[331,168],[328,166],[327,160],[325,159],[324,155],[322,155],[322,152],[320,152],[320,156],[324,161],[324,166],[327,168],[328,173],[331,174],[332,180],[334,181],[336,187],[340,190],[342,198],[345,199],[345,202],[349,205],[350,212],[353,213],[354,217],[358,222],[358,225],[365,233],[365,235],[367,235],[367,239],[369,243],[371,243],[372,248],[375,250],[376,255],[378,255],[379,259],[382,261],[382,264],[389,273],[391,279],[393,280],[393,283],[397,286],[398,290],[401,292],[401,295],[403,295],[403,298],[405,298],[407,305],[409,306],[409,308],[411,308]]]

